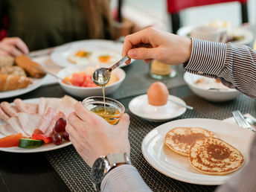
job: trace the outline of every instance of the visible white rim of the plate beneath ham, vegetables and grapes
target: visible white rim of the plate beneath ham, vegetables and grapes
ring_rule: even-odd
[[[34,99],[28,99],[28,100],[23,100],[27,103],[39,103],[39,98],[34,98]],[[0,121],[0,125],[5,124],[4,121]],[[0,134],[0,138],[3,138],[4,135]],[[56,144],[43,144],[40,147],[34,148],[34,149],[24,149],[20,147],[0,147],[0,151],[5,151],[5,152],[11,152],[11,153],[39,153],[39,152],[45,152],[45,151],[50,151],[50,150],[57,150],[63,147],[66,147],[70,145],[70,141],[63,141],[62,144],[56,145]]]

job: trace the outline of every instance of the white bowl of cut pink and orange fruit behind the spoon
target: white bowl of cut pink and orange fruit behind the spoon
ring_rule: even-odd
[[[58,80],[60,86],[70,95],[76,97],[89,97],[103,95],[102,87],[92,82],[92,74],[98,67],[95,65],[74,65],[63,68],[57,74],[63,80]],[[124,81],[125,72],[121,68],[112,71],[109,83],[106,84],[105,94],[109,95]]]

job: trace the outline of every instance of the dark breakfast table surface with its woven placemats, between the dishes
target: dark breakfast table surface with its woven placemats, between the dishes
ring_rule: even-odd
[[[150,84],[156,82],[150,77],[149,65],[136,60],[123,68],[126,79],[111,95],[124,104],[130,116],[129,142],[131,161],[144,181],[153,191],[214,191],[217,185],[195,185],[181,182],[165,176],[154,169],[141,153],[141,143],[150,130],[165,122],[152,122],[133,115],[128,108],[129,102],[138,95],[147,93]],[[256,101],[246,95],[234,100],[214,103],[204,100],[191,92],[183,80],[182,65],[176,66],[176,77],[161,80],[167,85],[170,95],[182,98],[193,110],[174,118],[213,118],[223,120],[232,116],[232,111],[239,109],[243,114],[256,116]],[[51,80],[38,89],[16,97],[22,100],[36,97],[63,97],[67,95],[56,81]],[[16,97],[1,99],[13,102]],[[74,96],[73,96],[74,97]],[[83,100],[80,97],[74,97]],[[173,121],[171,120],[171,121]],[[242,129],[242,128],[241,128]],[[72,145],[58,150],[42,153],[0,152],[0,191],[94,191],[90,179],[90,168],[80,158]]]

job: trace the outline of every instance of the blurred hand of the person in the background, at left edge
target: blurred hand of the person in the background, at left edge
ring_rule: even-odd
[[[0,54],[7,56],[19,56],[28,54],[28,47],[19,37],[6,37],[0,41]]]

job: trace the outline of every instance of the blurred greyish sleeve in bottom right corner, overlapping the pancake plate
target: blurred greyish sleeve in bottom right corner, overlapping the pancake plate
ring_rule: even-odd
[[[235,176],[225,182],[217,192],[256,191],[256,137],[252,142],[250,161]]]

